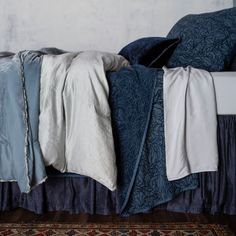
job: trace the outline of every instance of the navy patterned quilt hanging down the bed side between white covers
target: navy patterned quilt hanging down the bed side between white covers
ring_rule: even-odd
[[[198,186],[197,175],[168,181],[163,71],[135,65],[108,74],[123,216],[147,212]]]

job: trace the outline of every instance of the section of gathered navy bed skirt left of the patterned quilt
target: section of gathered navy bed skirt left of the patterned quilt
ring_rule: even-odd
[[[87,177],[49,177],[29,194],[20,193],[17,183],[0,183],[0,210],[22,207],[41,214],[69,211],[109,215],[119,212],[116,192]]]

